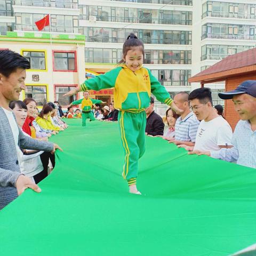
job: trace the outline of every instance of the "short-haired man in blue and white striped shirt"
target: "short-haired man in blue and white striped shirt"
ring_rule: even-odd
[[[174,96],[173,102],[183,110],[183,113],[175,123],[175,138],[165,138],[169,143],[175,145],[194,146],[196,141],[196,132],[199,121],[189,109],[189,100],[187,92],[179,92]]]

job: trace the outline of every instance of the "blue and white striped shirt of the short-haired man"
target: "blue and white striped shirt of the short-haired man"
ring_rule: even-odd
[[[183,119],[180,116],[175,123],[175,140],[195,142],[199,123],[193,112]]]

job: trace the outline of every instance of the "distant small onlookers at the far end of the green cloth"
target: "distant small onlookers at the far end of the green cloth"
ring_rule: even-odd
[[[115,109],[114,101],[104,107],[102,107],[100,103],[95,103],[91,111],[93,112],[95,119],[98,119],[99,121],[117,121],[118,119],[119,111]],[[74,107],[70,106],[61,116],[65,118],[82,118],[81,112],[82,110],[79,108],[74,109]]]

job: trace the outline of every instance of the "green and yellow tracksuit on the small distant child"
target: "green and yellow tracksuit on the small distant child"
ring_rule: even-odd
[[[87,118],[90,118],[91,121],[95,120],[95,117],[92,112],[92,104],[96,104],[96,103],[101,104],[102,101],[94,100],[90,98],[87,98],[87,99],[83,98],[80,100],[75,100],[71,103],[72,105],[82,104],[82,126],[86,126]]]

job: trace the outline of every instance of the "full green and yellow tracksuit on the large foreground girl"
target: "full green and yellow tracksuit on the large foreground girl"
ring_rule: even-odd
[[[80,85],[83,91],[99,91],[114,87],[115,108],[119,109],[118,122],[122,146],[125,152],[123,177],[128,185],[136,183],[138,160],[145,152],[145,108],[149,107],[150,95],[171,105],[172,99],[165,87],[147,68],[132,71],[126,65],[86,80]]]

